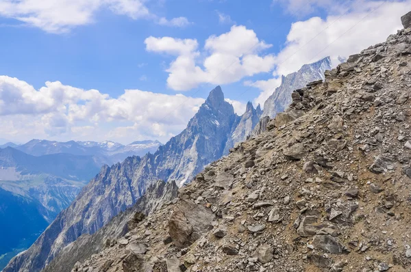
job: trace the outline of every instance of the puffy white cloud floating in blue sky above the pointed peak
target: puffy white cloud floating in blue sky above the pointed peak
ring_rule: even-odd
[[[166,70],[167,85],[177,91],[190,90],[201,83],[233,83],[269,72],[274,66],[273,55],[261,54],[271,44],[259,40],[253,30],[242,25],[234,25],[220,36],[210,36],[202,50],[193,39],[149,37],[145,44],[147,51],[177,56]]]

